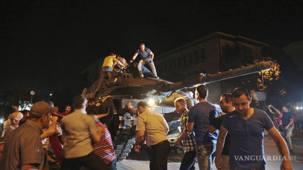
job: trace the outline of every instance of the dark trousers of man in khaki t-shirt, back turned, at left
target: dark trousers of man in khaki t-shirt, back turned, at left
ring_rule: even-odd
[[[95,155],[93,152],[79,158],[63,159],[60,169],[77,170],[80,169],[81,166],[94,170],[111,169],[109,165],[106,165],[105,162],[99,156]]]

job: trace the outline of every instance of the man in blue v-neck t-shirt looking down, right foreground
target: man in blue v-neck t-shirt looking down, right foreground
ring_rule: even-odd
[[[291,169],[289,152],[283,138],[274,127],[269,116],[259,109],[249,107],[251,97],[243,88],[232,92],[232,103],[235,111],[228,113],[222,121],[218,136],[216,167],[221,169],[221,152],[227,131],[230,134],[229,165],[231,170],[265,170],[264,129],[278,145],[283,162],[281,169]],[[285,158],[285,159],[284,159]]]

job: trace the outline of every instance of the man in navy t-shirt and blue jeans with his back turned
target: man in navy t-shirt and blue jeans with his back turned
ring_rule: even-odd
[[[219,110],[206,100],[208,88],[205,85],[198,86],[195,95],[199,103],[189,110],[186,126],[188,132],[195,129],[199,169],[211,170],[215,160],[218,130],[210,133],[208,128],[215,123]]]

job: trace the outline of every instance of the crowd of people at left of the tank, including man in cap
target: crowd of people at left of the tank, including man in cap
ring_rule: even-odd
[[[99,115],[94,110],[108,97],[95,102],[75,96],[73,105],[66,105],[63,113],[51,101],[34,103],[22,113],[13,106],[15,112],[3,126],[1,169],[48,170],[49,152],[55,154],[53,161],[60,169],[116,169],[111,134],[99,120],[110,110]]]

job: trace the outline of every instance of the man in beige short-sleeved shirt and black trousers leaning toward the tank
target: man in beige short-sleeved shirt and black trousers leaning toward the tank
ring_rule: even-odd
[[[150,152],[149,168],[151,170],[167,169],[169,153],[169,142],[166,136],[169,131],[167,122],[161,113],[150,110],[146,102],[139,102],[137,110],[139,116],[135,151],[140,151],[140,143],[144,136]]]

